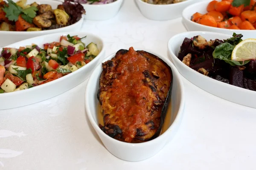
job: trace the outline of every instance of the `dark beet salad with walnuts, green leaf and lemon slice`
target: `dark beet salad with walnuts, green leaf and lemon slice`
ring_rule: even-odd
[[[256,91],[256,40],[233,34],[227,40],[185,38],[178,58],[188,67],[218,81]]]

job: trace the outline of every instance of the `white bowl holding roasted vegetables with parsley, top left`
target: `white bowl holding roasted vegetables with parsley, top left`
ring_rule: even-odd
[[[16,2],[17,0],[15,0]],[[62,4],[61,2],[55,1],[55,0],[27,0],[27,4],[37,2],[38,4],[49,4],[52,6],[53,9],[57,8],[59,4]],[[32,37],[38,37],[41,35],[48,35],[53,33],[59,33],[59,32],[68,32],[68,31],[80,31],[81,26],[83,24],[83,16],[82,18],[70,25],[63,28],[57,28],[52,30],[45,30],[45,31],[0,31],[0,47],[21,41],[26,40],[28,38]]]

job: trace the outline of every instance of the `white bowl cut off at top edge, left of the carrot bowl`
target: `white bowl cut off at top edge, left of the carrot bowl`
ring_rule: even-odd
[[[184,8],[196,0],[186,0],[180,3],[173,3],[168,5],[154,5],[145,3],[142,0],[136,0],[140,12],[150,20],[172,20],[181,17]]]

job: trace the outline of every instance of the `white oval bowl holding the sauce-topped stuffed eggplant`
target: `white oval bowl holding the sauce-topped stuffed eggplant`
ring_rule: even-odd
[[[99,138],[102,140],[102,143],[105,145],[107,150],[117,158],[126,161],[141,161],[151,156],[154,156],[158,151],[160,151],[164,147],[164,145],[167,142],[169,142],[172,139],[175,132],[177,131],[178,126],[180,125],[181,117],[183,114],[185,99],[184,87],[177,69],[166,57],[163,57],[160,54],[155,54],[154,52],[148,50],[145,51],[163,59],[163,61],[166,62],[172,68],[173,74],[173,87],[171,98],[172,116],[171,118],[169,118],[171,119],[169,120],[170,124],[167,125],[167,127],[169,128],[159,137],[148,142],[131,144],[126,142],[120,142],[116,139],[113,139],[110,136],[106,135],[99,128],[99,121],[97,119],[97,115],[100,114],[100,110],[99,101],[97,99],[97,91],[99,89],[99,77],[102,73],[102,64],[99,64],[93,71],[90,79],[88,80],[85,92],[85,109],[87,112],[87,116],[91,124],[93,125],[93,128],[96,130],[96,133],[99,135]],[[114,56],[115,54],[111,54],[102,62],[110,60]],[[168,116],[166,116],[166,119],[168,119]]]

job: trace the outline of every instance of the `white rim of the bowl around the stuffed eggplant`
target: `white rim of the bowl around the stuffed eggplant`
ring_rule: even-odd
[[[108,57],[105,57],[100,63],[99,65],[97,65],[90,78],[88,79],[88,82],[87,82],[87,85],[86,85],[86,89],[85,89],[85,110],[86,110],[86,113],[87,113],[87,116],[90,120],[90,123],[91,125],[93,126],[93,128],[97,131],[97,133],[101,133],[101,135],[105,136],[106,138],[108,138],[111,142],[113,143],[116,143],[116,144],[123,144],[127,147],[140,147],[142,145],[150,145],[150,144],[153,144],[153,143],[157,143],[159,142],[160,140],[163,140],[165,136],[169,135],[169,133],[172,131],[172,128],[177,124],[176,122],[179,121],[178,120],[178,117],[182,116],[182,113],[183,113],[183,110],[184,110],[184,106],[185,106],[185,90],[184,90],[184,85],[183,85],[183,81],[180,77],[180,74],[179,74],[179,71],[177,71],[177,68],[175,68],[175,65],[168,59],[168,57],[163,57],[163,55],[161,54],[158,54],[158,53],[155,53],[154,51],[151,51],[151,50],[148,50],[146,48],[134,48],[135,51],[137,50],[143,50],[143,51],[146,51],[148,53],[151,53],[151,54],[154,54],[156,55],[157,57],[159,57],[160,59],[163,59],[164,62],[166,62],[167,65],[169,65],[172,69],[172,72],[175,73],[177,75],[177,84],[178,86],[180,86],[180,105],[179,105],[179,109],[178,109],[178,112],[177,112],[177,116],[175,117],[174,121],[172,122],[172,125],[170,125],[168,127],[168,129],[163,133],[161,134],[160,136],[158,136],[157,138],[155,139],[152,139],[150,141],[147,141],[147,142],[143,142],[143,143],[127,143],[127,142],[122,142],[122,141],[119,141],[119,140],[116,140],[116,139],[113,139],[111,138],[110,136],[108,136],[106,133],[104,133],[100,128],[99,128],[99,125],[96,124],[96,122],[94,121],[93,119],[93,116],[92,116],[92,113],[91,113],[91,110],[90,110],[90,106],[89,106],[89,102],[88,102],[88,95],[87,95],[87,92],[90,90],[90,84],[91,82],[94,81],[94,77],[93,76],[94,74],[96,75],[96,71],[102,66],[102,62],[105,62],[111,58],[113,58],[115,55],[116,55],[116,52],[113,53],[113,54],[110,54],[108,55]],[[102,68],[101,68],[102,70]],[[101,72],[100,72],[101,74]]]

